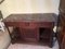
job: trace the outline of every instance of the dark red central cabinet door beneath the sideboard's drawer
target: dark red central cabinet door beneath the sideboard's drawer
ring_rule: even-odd
[[[21,28],[21,36],[26,41],[39,40],[39,28]]]

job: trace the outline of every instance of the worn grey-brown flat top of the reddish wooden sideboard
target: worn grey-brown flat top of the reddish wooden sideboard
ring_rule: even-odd
[[[3,22],[55,22],[54,13],[10,14]]]

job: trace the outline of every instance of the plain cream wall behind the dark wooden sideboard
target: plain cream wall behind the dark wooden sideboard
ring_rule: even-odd
[[[11,13],[58,13],[60,0],[5,0],[0,4],[3,17]]]

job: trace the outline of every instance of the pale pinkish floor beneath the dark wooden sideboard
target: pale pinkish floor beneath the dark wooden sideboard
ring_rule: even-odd
[[[48,46],[40,46],[40,45],[28,45],[28,44],[14,44],[10,45],[8,49],[58,49],[57,41],[53,48],[49,48]]]

